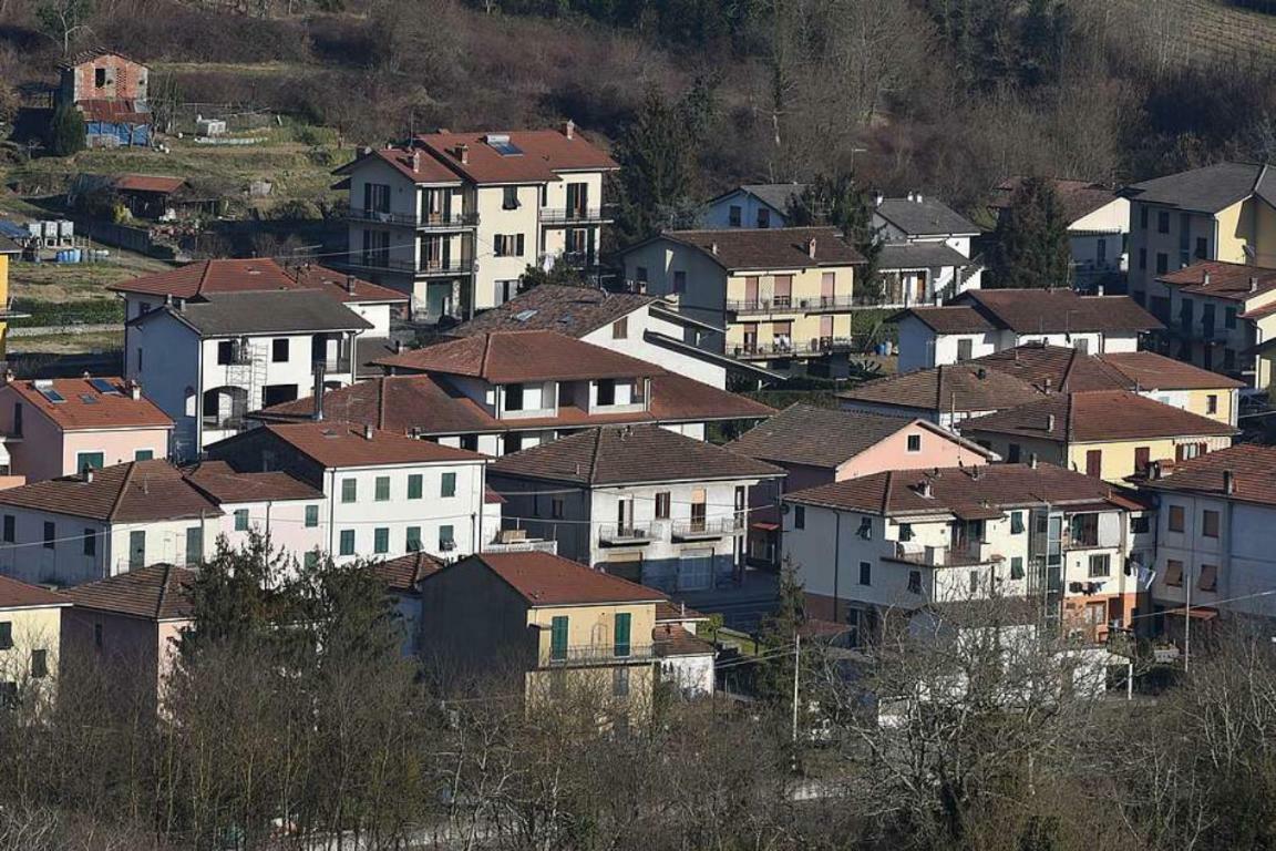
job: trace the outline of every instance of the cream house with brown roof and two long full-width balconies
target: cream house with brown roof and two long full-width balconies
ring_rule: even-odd
[[[669,231],[621,259],[632,288],[723,328],[732,357],[785,369],[851,348],[864,258],[836,228]]]

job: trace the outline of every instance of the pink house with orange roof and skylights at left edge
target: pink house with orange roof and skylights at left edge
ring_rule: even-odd
[[[128,461],[167,458],[172,420],[119,378],[17,380],[0,385],[0,461],[14,484]]]

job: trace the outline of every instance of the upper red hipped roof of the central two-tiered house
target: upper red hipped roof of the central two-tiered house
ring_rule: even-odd
[[[375,361],[420,373],[481,378],[493,384],[660,375],[665,370],[553,330],[498,330]]]

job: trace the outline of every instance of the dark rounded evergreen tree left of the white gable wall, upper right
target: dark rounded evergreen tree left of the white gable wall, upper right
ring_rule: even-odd
[[[997,226],[993,281],[998,287],[1067,287],[1072,279],[1068,221],[1044,177],[1014,191]]]

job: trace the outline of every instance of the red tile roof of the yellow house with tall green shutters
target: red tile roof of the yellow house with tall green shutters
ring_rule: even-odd
[[[505,581],[531,607],[651,602],[665,595],[549,552],[482,552],[456,564],[478,563]],[[440,575],[450,568],[431,574]],[[429,581],[430,577],[426,577]],[[422,586],[422,592],[429,584]]]

